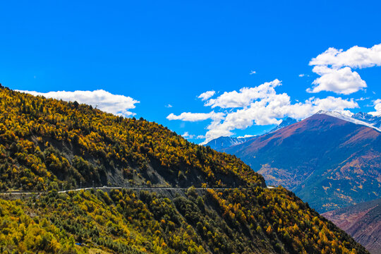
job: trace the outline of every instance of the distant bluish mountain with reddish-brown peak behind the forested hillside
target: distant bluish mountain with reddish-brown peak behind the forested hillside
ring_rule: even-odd
[[[319,212],[380,197],[381,133],[326,114],[224,150]]]

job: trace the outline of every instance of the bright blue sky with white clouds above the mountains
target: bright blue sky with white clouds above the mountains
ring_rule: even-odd
[[[320,108],[381,111],[380,1],[3,1],[0,9],[0,83],[104,90],[51,95],[143,116],[195,143],[260,134]],[[207,91],[214,96],[198,98]]]

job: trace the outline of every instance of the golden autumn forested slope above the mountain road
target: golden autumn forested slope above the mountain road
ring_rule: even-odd
[[[236,157],[188,143],[157,123],[76,102],[0,92],[2,190],[40,191],[57,183],[66,189],[264,184]]]

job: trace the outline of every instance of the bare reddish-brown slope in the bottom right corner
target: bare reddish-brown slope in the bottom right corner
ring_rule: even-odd
[[[353,236],[370,253],[381,253],[381,199],[325,212],[322,216]]]

